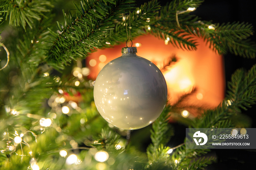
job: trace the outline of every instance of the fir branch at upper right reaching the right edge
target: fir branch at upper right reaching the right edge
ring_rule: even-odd
[[[226,54],[230,51],[245,58],[255,58],[256,43],[246,39],[253,35],[251,24],[233,22],[215,26],[210,22],[198,21],[193,24],[188,23],[184,29],[191,34],[203,37],[219,54]]]

